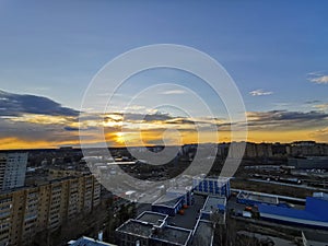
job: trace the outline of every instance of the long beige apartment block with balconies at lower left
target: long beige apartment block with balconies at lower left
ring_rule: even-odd
[[[37,187],[0,194],[0,246],[28,245],[33,236],[54,231],[101,202],[101,185],[92,175],[65,177]]]

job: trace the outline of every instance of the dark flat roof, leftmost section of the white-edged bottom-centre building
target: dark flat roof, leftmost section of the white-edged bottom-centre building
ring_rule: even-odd
[[[143,237],[150,237],[152,235],[153,225],[147,222],[137,221],[137,220],[128,220],[121,226],[119,226],[116,231],[124,232],[128,234],[134,234]]]

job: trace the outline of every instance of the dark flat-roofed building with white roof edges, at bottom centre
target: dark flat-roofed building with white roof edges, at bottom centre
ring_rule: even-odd
[[[116,230],[119,246],[212,246],[214,225],[198,219],[192,230],[167,224],[168,215],[145,211]]]

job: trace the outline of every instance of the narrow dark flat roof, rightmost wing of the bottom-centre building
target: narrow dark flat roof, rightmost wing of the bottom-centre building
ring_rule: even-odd
[[[213,243],[214,229],[209,221],[199,220],[194,233],[192,245],[211,246]]]

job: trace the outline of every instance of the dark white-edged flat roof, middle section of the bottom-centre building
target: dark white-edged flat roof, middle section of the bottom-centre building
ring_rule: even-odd
[[[187,245],[191,236],[191,230],[168,225],[159,231],[157,233],[154,233],[152,235],[152,238],[174,243],[177,245]]]

